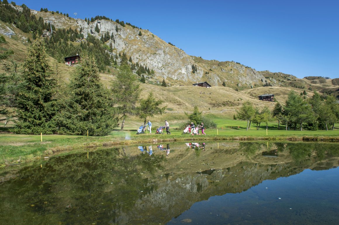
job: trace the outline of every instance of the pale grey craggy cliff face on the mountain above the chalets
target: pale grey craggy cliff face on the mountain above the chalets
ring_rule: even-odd
[[[16,6],[16,8],[22,10],[21,6]],[[237,84],[245,88],[265,79],[260,72],[233,61],[204,60],[202,63],[197,60],[197,57],[187,55],[183,50],[164,42],[148,30],[133,28],[129,25],[123,27],[109,20],[96,20],[87,24],[82,19],[67,18],[61,14],[36,10],[31,10],[31,13],[37,18],[43,17],[46,22],[51,22],[56,28],[71,27],[81,30],[85,38],[88,34],[92,34],[100,39],[101,35],[108,32],[113,37],[106,42],[107,45],[112,44],[114,48],[112,55],[125,52],[127,57],[132,58],[133,63],[138,62],[140,65],[153,69],[155,76],[159,78],[171,78],[185,82],[207,81],[213,86],[221,86],[225,82],[230,87],[236,87]],[[97,25],[99,32],[95,31]],[[140,31],[142,35],[139,35]],[[0,29],[0,33],[7,36],[15,34],[10,27],[4,26]],[[195,65],[194,72],[193,65]]]

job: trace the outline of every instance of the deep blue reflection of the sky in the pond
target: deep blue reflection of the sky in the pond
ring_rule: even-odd
[[[192,219],[190,224],[338,224],[338,202],[339,168],[307,169],[197,202],[168,224],[184,219]]]

